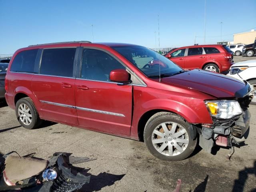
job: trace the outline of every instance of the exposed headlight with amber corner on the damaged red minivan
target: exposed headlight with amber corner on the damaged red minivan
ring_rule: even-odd
[[[230,119],[242,114],[242,109],[237,101],[213,100],[205,101],[211,116],[219,119]]]

